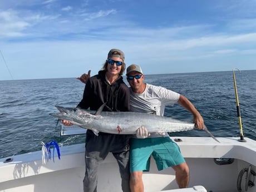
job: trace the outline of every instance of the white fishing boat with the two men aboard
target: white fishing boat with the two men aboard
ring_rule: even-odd
[[[174,170],[158,171],[152,159],[150,171],[142,176],[145,191],[256,192],[256,141],[243,135],[236,85],[235,93],[240,137],[217,137],[220,141],[217,142],[211,137],[171,136],[188,163],[189,187],[178,189]],[[86,134],[85,129],[79,127],[60,128],[61,136]],[[49,147],[52,157],[47,160],[42,159],[42,151],[0,159],[0,191],[83,191],[85,147],[85,144],[62,146],[59,148],[60,154],[57,151],[54,154],[55,148]],[[121,191],[119,168],[112,154],[100,166],[97,191]]]

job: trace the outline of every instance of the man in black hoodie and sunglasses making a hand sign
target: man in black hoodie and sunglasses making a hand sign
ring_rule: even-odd
[[[85,90],[83,99],[77,107],[97,110],[102,104],[105,104],[103,111],[129,111],[129,88],[121,76],[125,71],[124,60],[124,52],[112,49],[107,55],[102,70],[97,75],[90,77],[90,74],[84,74]],[[83,82],[82,76],[78,79]],[[66,120],[63,120],[62,124],[72,125]],[[97,170],[107,154],[112,152],[119,164],[122,191],[130,192],[129,139],[130,135],[100,132],[99,136],[96,136],[91,130],[87,130],[83,191],[97,191]]]

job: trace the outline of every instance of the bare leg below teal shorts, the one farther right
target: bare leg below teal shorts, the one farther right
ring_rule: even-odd
[[[187,188],[189,185],[189,167],[186,163],[173,166],[176,172],[176,182],[179,188]]]

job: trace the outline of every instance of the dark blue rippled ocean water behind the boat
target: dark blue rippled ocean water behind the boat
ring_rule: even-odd
[[[243,133],[256,140],[256,70],[236,71],[235,77]],[[232,71],[145,75],[145,82],[186,96],[215,137],[240,136]],[[60,125],[49,115],[57,112],[55,105],[75,107],[83,88],[75,78],[0,81],[0,158],[41,150],[41,141],[56,140],[61,146],[83,143],[85,135],[60,137]],[[178,104],[167,106],[165,116],[193,121]],[[192,130],[171,136],[208,135]]]

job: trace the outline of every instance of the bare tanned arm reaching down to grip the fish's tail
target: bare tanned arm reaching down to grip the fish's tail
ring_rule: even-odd
[[[186,110],[191,112],[194,116],[194,123],[196,124],[196,127],[198,129],[204,129],[204,119],[198,112],[198,110],[195,109],[195,106],[183,95],[180,95],[180,99],[178,100],[178,104],[183,106]]]

